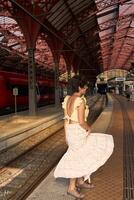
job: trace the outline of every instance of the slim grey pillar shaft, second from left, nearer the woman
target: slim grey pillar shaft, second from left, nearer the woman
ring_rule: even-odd
[[[60,91],[59,91],[59,64],[55,63],[55,106],[60,105]]]

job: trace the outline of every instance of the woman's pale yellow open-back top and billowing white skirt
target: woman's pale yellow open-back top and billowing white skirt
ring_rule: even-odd
[[[66,119],[78,122],[77,108],[82,103],[78,97],[74,102],[74,109],[71,117],[66,113],[66,104],[69,96],[66,96],[62,107],[65,109]],[[88,116],[88,109],[85,109],[85,116]],[[79,123],[66,125],[66,140],[68,143],[67,152],[59,161],[54,177],[77,178],[84,177],[90,182],[90,176],[101,167],[111,156],[114,148],[113,136],[104,133],[91,133],[88,135]]]

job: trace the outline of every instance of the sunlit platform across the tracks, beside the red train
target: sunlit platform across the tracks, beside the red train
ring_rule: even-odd
[[[0,117],[0,140],[7,138],[13,133],[19,133],[30,127],[36,127],[42,122],[47,122],[55,116],[63,115],[61,107],[49,106],[37,111],[36,116],[29,116],[28,111],[19,112],[17,115],[10,114]]]

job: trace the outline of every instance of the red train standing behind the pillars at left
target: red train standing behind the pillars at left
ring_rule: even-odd
[[[63,97],[65,83],[60,82],[60,98]],[[17,107],[28,108],[28,76],[19,73],[0,71],[0,109],[14,109],[13,88],[18,88]],[[54,79],[37,78],[37,97],[39,105],[54,103]]]

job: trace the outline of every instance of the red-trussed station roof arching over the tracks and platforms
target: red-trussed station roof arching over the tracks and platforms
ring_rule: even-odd
[[[31,7],[41,10],[43,22]],[[54,71],[52,51],[59,49],[48,45],[50,35],[63,43],[60,74],[66,71],[68,53],[79,59],[78,70],[91,79],[106,70],[129,70],[134,63],[134,0],[1,0],[2,70],[27,71],[26,40],[13,12],[16,8],[41,24],[35,52],[40,73]]]

